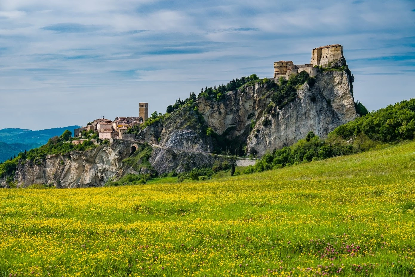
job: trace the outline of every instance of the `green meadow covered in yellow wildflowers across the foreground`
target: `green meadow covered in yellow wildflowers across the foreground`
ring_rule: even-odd
[[[415,272],[415,142],[213,181],[0,199],[1,276]]]

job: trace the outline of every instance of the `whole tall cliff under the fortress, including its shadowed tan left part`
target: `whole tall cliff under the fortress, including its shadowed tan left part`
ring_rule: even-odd
[[[315,84],[299,86],[295,99],[281,108],[271,102],[271,82],[247,84],[228,92],[223,101],[199,97],[199,111],[215,132],[241,140],[247,154],[259,156],[292,145],[309,131],[327,137],[358,116],[346,71],[319,70]]]

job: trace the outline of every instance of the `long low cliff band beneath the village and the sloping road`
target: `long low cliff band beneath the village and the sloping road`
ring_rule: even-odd
[[[202,152],[161,148],[125,140],[113,140],[88,151],[46,156],[34,162],[20,160],[14,174],[17,188],[43,184],[57,188],[103,186],[127,174],[164,174],[212,167],[215,161],[232,159]],[[1,187],[9,187],[7,177]]]

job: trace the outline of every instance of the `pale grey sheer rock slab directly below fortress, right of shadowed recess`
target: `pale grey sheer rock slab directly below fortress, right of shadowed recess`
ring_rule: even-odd
[[[327,137],[335,127],[358,117],[345,71],[320,72],[312,88],[304,83],[297,94],[281,110],[275,107],[258,117],[247,139],[248,154],[262,156],[267,150],[292,145],[309,131]]]

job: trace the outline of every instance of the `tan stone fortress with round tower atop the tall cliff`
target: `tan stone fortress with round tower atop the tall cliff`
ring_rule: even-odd
[[[318,66],[325,66],[330,62],[344,60],[343,47],[340,44],[317,47],[311,50],[310,64],[293,64],[292,61],[276,61],[274,63],[274,78],[290,76],[301,71],[307,71],[310,76],[317,74]]]

